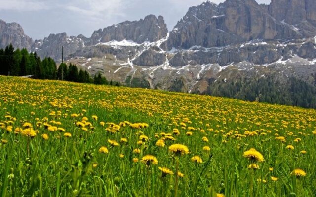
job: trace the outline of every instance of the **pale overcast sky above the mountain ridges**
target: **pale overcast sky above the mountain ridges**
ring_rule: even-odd
[[[0,0],[0,19],[17,22],[33,39],[49,33],[66,32],[90,37],[94,30],[149,14],[161,15],[168,30],[176,25],[189,7],[206,0]],[[220,3],[224,0],[210,0]],[[271,0],[257,0],[270,3]]]

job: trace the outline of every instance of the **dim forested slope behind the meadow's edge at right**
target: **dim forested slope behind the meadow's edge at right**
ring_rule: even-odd
[[[289,77],[286,81],[275,80],[273,76],[259,79],[240,78],[232,82],[211,83],[208,95],[316,108],[316,87],[302,79]]]

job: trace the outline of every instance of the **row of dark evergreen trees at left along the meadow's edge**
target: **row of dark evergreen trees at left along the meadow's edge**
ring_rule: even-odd
[[[108,82],[98,73],[93,78],[87,71],[79,70],[76,65],[60,64],[57,69],[56,62],[48,57],[43,60],[36,52],[29,53],[27,49],[16,49],[10,44],[0,49],[0,75],[28,76],[34,75],[36,79],[65,80],[79,83],[94,83],[119,86],[118,82]]]

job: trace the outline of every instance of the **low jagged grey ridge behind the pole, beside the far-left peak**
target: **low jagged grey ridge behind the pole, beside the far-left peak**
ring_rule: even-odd
[[[85,46],[84,39],[87,40],[83,35],[68,37],[66,33],[50,34],[44,40],[35,40],[32,50],[36,51],[41,58],[49,56],[61,62],[62,47],[64,46],[64,59],[67,59],[70,54]]]

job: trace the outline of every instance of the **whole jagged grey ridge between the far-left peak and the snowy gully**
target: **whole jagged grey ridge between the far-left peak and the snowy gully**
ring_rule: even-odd
[[[83,35],[77,37],[67,36],[66,33],[50,34],[44,40],[35,40],[32,50],[37,51],[42,58],[50,56],[61,62],[62,46],[64,46],[64,57],[66,60],[69,55],[75,54],[76,51],[86,47],[91,48],[91,46],[93,47],[96,44],[107,43],[113,40],[131,40],[136,43],[154,42],[166,37],[167,33],[167,26],[163,17],[159,16],[156,18],[154,15],[149,15],[139,21],[126,21],[103,30],[100,29],[95,31],[90,38],[86,38]]]

